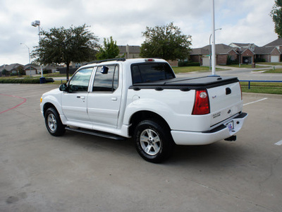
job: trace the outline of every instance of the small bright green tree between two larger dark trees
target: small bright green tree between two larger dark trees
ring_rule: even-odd
[[[104,48],[100,48],[99,52],[96,54],[97,59],[112,59],[118,57],[119,49],[116,45],[116,41],[113,37],[104,38]]]

